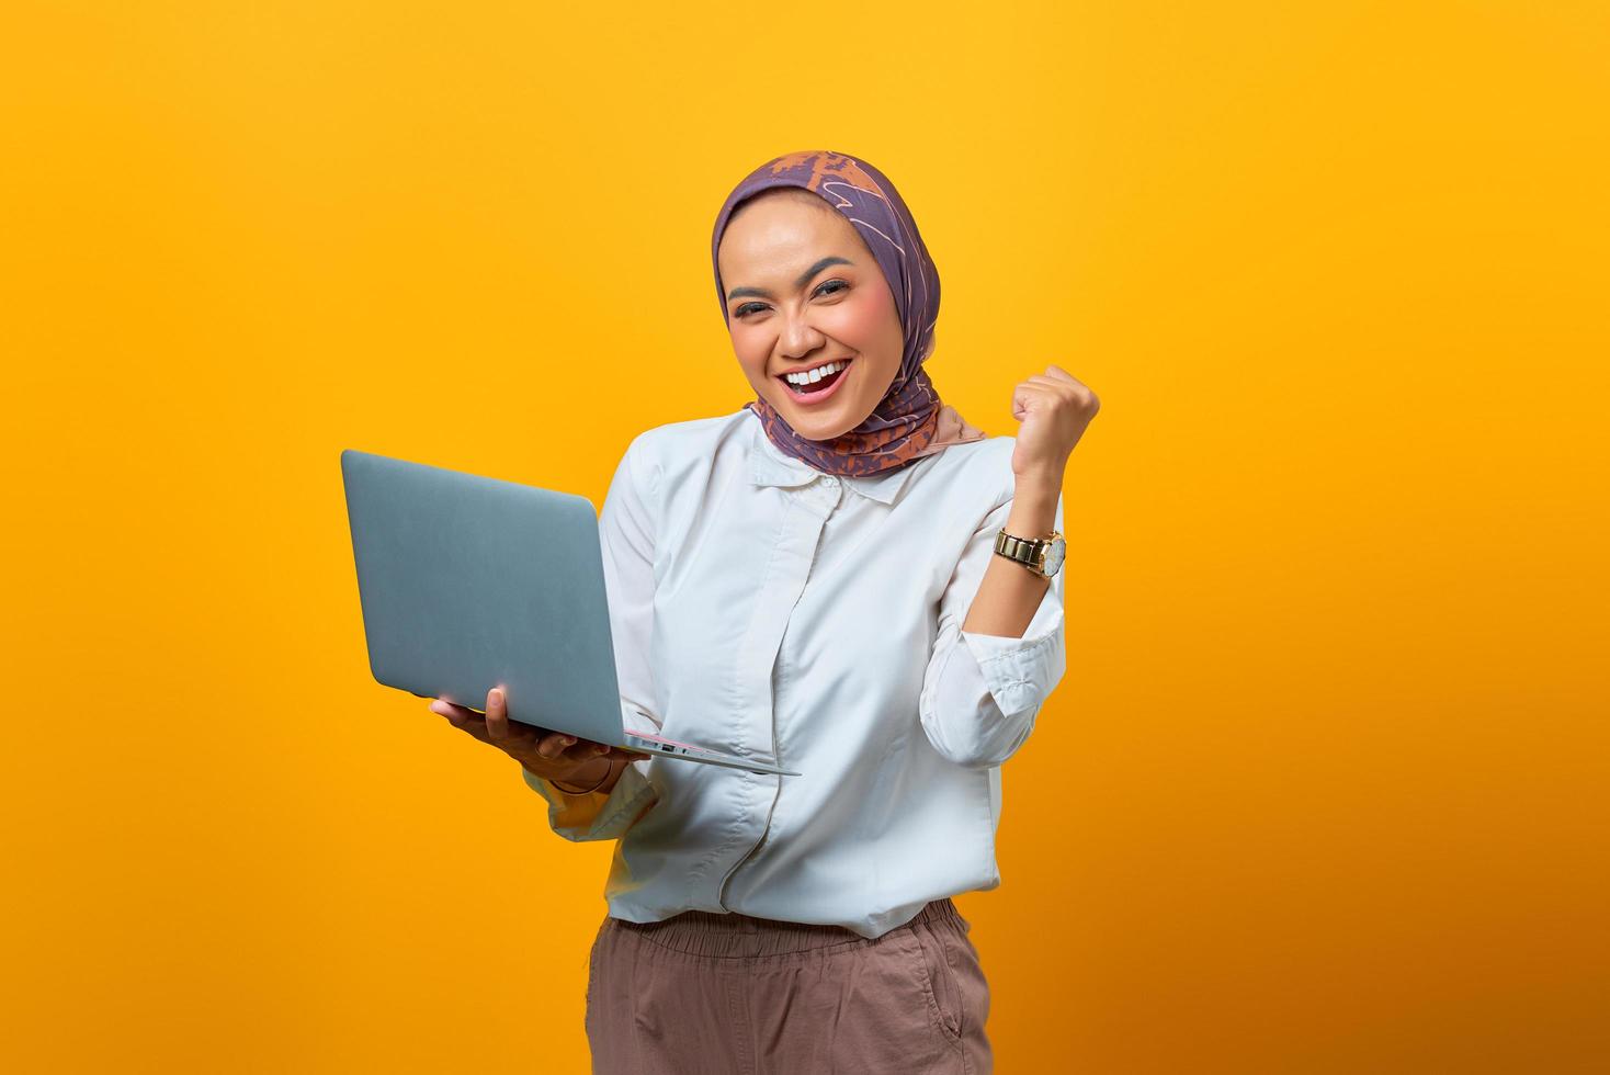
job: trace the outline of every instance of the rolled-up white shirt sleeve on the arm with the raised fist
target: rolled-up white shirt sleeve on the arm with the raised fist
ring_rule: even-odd
[[[968,542],[939,605],[939,634],[923,682],[923,731],[947,760],[987,769],[1011,758],[1067,668],[1063,634],[1063,578],[1051,576],[1022,637],[963,631],[984,571],[995,557],[995,534],[1006,525],[1011,499],[997,505]],[[1056,499],[1063,529],[1063,497]]]

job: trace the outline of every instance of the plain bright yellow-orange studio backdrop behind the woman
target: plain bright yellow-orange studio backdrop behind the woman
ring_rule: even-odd
[[[1605,11],[11,0],[0,1067],[586,1070],[610,846],[369,678],[338,454],[601,502],[832,148],[950,402],[1103,399],[998,1070],[1610,1069]]]

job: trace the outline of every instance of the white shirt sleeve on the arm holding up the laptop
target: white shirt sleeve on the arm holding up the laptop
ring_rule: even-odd
[[[621,455],[599,512],[599,546],[621,723],[644,732],[658,732],[662,724],[654,711],[654,676],[649,665],[657,484],[658,475],[644,457],[639,435]],[[658,801],[658,792],[649,781],[649,760],[626,766],[609,793],[572,795],[523,766],[520,772],[526,785],[547,800],[547,822],[567,840],[615,840]]]

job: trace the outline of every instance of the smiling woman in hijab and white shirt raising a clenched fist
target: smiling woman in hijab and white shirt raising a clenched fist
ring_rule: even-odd
[[[755,169],[712,256],[755,399],[615,472],[621,710],[800,776],[510,724],[497,689],[485,718],[431,708],[517,758],[560,835],[620,840],[594,1072],[987,1072],[950,896],[1000,883],[1000,766],[1063,676],[1061,484],[1096,397],[1048,367],[1013,391],[1016,438],[940,404],[939,275],[848,154]]]

